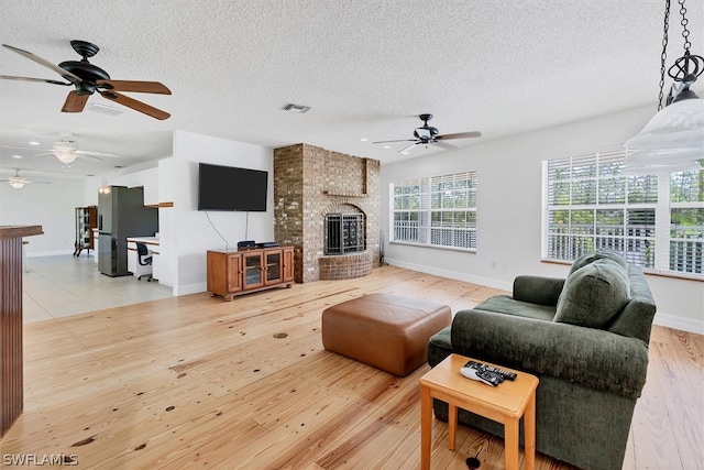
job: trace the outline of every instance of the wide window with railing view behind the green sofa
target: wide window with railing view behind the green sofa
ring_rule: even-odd
[[[544,162],[544,258],[607,248],[645,269],[704,274],[704,170],[626,175],[625,157]]]

